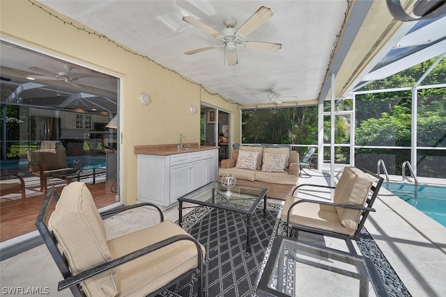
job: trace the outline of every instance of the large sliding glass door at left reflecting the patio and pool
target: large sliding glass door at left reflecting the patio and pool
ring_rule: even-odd
[[[36,230],[46,188],[85,182],[98,208],[118,202],[119,79],[0,40],[1,241]],[[60,158],[60,159],[59,159]],[[47,170],[41,177],[31,163]]]

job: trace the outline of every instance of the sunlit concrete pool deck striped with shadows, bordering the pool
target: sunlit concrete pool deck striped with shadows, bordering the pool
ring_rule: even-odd
[[[401,182],[401,176],[390,177]],[[446,185],[420,178],[419,184]],[[383,188],[366,227],[413,296],[446,296],[446,227]]]

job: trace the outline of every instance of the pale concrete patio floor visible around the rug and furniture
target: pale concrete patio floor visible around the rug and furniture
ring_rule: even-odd
[[[312,177],[300,178],[300,184],[326,184],[321,172],[306,171]],[[339,178],[340,172],[337,172],[336,176]],[[391,177],[391,179],[401,181],[401,177]],[[438,182],[438,180],[423,182]],[[322,199],[330,198],[330,193],[317,195]],[[314,199],[314,193],[309,191],[300,191],[299,196]],[[280,200],[274,202],[277,201],[281,202]],[[376,212],[370,214],[365,227],[410,294],[446,296],[446,227],[392,195],[385,186],[381,188],[374,208]],[[176,221],[178,219],[176,207],[164,211],[164,218]],[[151,210],[142,208],[134,209],[125,216],[109,218],[105,224],[107,230],[112,232],[109,232],[107,237],[114,238],[124,232],[152,225],[156,219]],[[328,246],[332,245],[330,240],[325,239]],[[38,287],[42,291],[49,291],[50,296],[72,296],[69,290],[57,291],[57,282],[62,277],[43,245],[3,260],[0,262],[0,268],[2,294],[6,294],[5,290],[10,288]]]

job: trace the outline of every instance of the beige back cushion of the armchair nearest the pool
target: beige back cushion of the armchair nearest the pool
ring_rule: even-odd
[[[334,203],[364,206],[373,180],[362,170],[353,166],[344,168],[341,178],[334,189]],[[345,227],[357,229],[362,211],[336,207],[339,222]]]

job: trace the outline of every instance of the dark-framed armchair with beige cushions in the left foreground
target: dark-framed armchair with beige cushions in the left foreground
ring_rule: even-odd
[[[52,198],[56,209],[47,220]],[[107,241],[102,218],[143,205],[159,211],[160,223]],[[60,199],[54,187],[49,189],[36,226],[63,275],[59,290],[69,287],[74,296],[156,296],[194,273],[201,296],[203,246],[180,226],[163,221],[154,204],[100,214],[86,185],[72,182]]]

